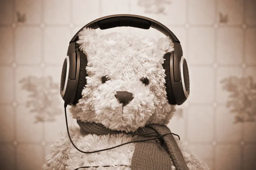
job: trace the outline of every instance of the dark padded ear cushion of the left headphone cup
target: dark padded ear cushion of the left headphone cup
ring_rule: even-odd
[[[80,67],[79,67],[79,79],[78,79],[78,85],[76,90],[76,96],[73,101],[73,105],[76,105],[78,103],[78,100],[82,98],[82,91],[84,89],[84,86],[86,85],[86,78],[87,72],[86,72],[86,66],[87,66],[87,56],[78,50],[80,54]]]

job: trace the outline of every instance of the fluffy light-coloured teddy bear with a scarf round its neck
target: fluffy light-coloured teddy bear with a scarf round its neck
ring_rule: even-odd
[[[79,125],[69,127],[77,148],[91,152],[147,139],[136,138],[136,134],[144,133],[150,125],[169,123],[176,111],[176,105],[169,104],[166,98],[162,66],[163,55],[174,50],[169,37],[155,40],[117,32],[99,35],[95,29],[84,28],[76,44],[88,60],[82,97],[70,108]],[[184,161],[184,170],[209,170],[176,136],[172,138],[178,146],[175,159],[168,155],[160,138],[144,142],[145,145],[133,142],[101,152],[81,153],[65,134],[51,146],[43,170],[165,170],[160,166],[177,170],[178,159]],[[141,162],[145,168],[140,167]]]

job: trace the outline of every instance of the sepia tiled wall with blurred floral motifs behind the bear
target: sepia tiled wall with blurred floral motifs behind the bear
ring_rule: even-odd
[[[110,14],[150,17],[180,39],[191,95],[172,132],[212,170],[255,170],[256,0],[0,0],[0,169],[41,169],[66,133],[59,84],[69,41]],[[164,36],[99,34],[113,31]]]

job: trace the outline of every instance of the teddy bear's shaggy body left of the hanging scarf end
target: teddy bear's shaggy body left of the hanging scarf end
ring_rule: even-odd
[[[70,127],[70,136],[72,136],[73,142],[79,149],[83,151],[101,150],[116,145],[130,142],[131,135],[126,134],[108,134],[108,135],[82,135],[79,131],[79,127]],[[73,147],[70,143],[70,139],[67,135],[58,139],[58,142],[54,144],[54,150],[56,154],[49,155],[47,162],[44,164],[44,170],[52,170],[54,167],[58,170],[74,170],[78,167],[86,166],[104,166],[104,165],[127,165],[117,167],[92,167],[85,170],[130,170],[131,158],[134,152],[135,144],[126,144],[121,147],[117,147],[111,150],[105,150],[98,153],[81,153]],[[61,152],[60,152],[61,150]],[[57,154],[58,153],[58,154]],[[55,160],[55,162],[51,162]]]

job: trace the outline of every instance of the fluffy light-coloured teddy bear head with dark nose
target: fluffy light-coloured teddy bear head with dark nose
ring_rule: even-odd
[[[162,66],[164,54],[174,50],[169,37],[99,36],[84,28],[77,45],[87,56],[87,83],[82,98],[70,108],[73,118],[126,132],[169,122],[175,105],[167,100]]]

